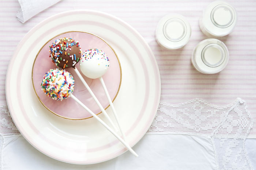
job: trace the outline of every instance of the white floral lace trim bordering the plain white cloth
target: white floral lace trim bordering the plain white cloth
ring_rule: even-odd
[[[211,138],[218,170],[252,170],[245,150],[245,139],[252,127],[251,114],[245,101],[240,98],[225,107],[193,99],[176,105],[160,102],[147,134],[201,135]],[[20,135],[6,104],[0,105],[0,135],[1,153],[4,137]]]

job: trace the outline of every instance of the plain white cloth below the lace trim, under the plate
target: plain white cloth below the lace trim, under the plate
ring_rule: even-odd
[[[133,150],[110,161],[74,165],[52,159],[31,146],[22,136],[6,138],[2,170],[216,170],[212,146],[207,138],[190,135],[145,135]],[[200,145],[199,145],[200,144]],[[246,140],[246,150],[256,169],[255,139]],[[204,154],[206,153],[207,154]]]

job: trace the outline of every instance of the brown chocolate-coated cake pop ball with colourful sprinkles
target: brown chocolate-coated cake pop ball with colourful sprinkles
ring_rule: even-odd
[[[55,40],[50,46],[50,58],[56,66],[61,68],[75,67],[81,58],[81,53],[79,42],[72,38]]]

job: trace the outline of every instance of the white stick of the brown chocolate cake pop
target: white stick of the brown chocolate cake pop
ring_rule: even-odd
[[[86,81],[83,79],[82,75],[80,74],[80,72],[77,70],[77,68],[74,68],[76,74],[78,75],[78,77],[81,79],[81,81],[83,82],[84,86],[87,88],[87,90],[89,91],[89,93],[91,94],[91,96],[93,97],[93,99],[95,100],[95,102],[98,104],[99,108],[101,109],[102,113],[106,116],[106,118],[108,119],[109,123],[111,124],[111,126],[113,127],[114,131],[118,132],[116,126],[114,125],[114,123],[112,122],[112,120],[110,119],[109,115],[107,114],[107,112],[104,110],[104,108],[101,106],[101,103],[99,103],[99,100],[96,98],[96,96],[94,95],[93,91],[91,91],[91,88],[88,86],[88,84],[86,83]],[[80,103],[79,103],[80,104]],[[82,105],[81,105],[82,106]]]

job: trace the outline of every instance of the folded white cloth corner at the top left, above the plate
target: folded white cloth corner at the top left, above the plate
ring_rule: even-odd
[[[22,23],[25,23],[37,13],[56,4],[60,0],[19,0],[20,10],[16,17]]]

